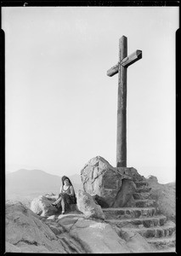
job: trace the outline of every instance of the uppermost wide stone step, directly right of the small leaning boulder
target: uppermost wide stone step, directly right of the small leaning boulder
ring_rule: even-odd
[[[156,214],[155,207],[120,207],[120,208],[102,208],[105,218],[139,218],[152,217]]]

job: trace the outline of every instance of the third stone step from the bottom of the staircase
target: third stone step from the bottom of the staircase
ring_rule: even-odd
[[[112,219],[105,218],[105,222],[110,224],[116,224],[120,228],[128,228],[131,224],[133,225],[144,225],[145,228],[150,228],[154,226],[162,226],[166,223],[167,218],[163,215],[157,215],[153,217],[140,217],[140,218],[122,218],[122,219]],[[135,227],[135,226],[134,226]]]

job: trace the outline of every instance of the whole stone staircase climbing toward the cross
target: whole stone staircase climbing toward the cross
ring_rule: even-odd
[[[103,208],[105,221],[122,228],[122,231],[138,232],[158,252],[175,252],[175,224],[158,213],[148,183],[142,181],[135,184],[135,207]]]

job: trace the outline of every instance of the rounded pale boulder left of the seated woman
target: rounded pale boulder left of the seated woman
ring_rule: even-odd
[[[56,195],[39,195],[31,201],[31,211],[43,217],[54,215],[59,212],[56,207],[52,206],[56,199]]]

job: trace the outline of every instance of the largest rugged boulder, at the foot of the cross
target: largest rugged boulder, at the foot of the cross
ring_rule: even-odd
[[[92,196],[99,195],[109,207],[119,201],[118,192],[122,188],[122,179],[143,179],[133,167],[113,167],[100,156],[88,161],[81,171],[81,178],[84,191]],[[130,190],[125,192],[130,194]],[[118,203],[116,206],[121,207]]]

